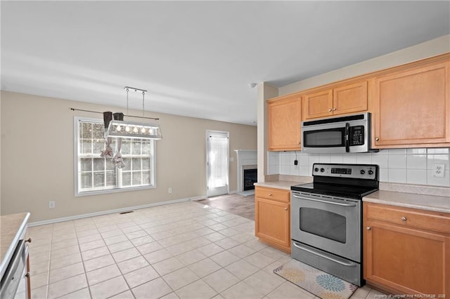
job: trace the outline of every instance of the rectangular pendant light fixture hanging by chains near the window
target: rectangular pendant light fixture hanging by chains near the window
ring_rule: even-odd
[[[132,89],[142,93],[142,117],[144,115],[144,100],[146,92],[143,89],[125,86],[127,91],[127,114],[128,114],[128,93]],[[105,123],[105,138],[139,138],[139,139],[162,139],[161,129],[158,124],[146,124],[135,121],[124,121],[122,117],[114,117],[112,112],[103,112],[103,121]]]

